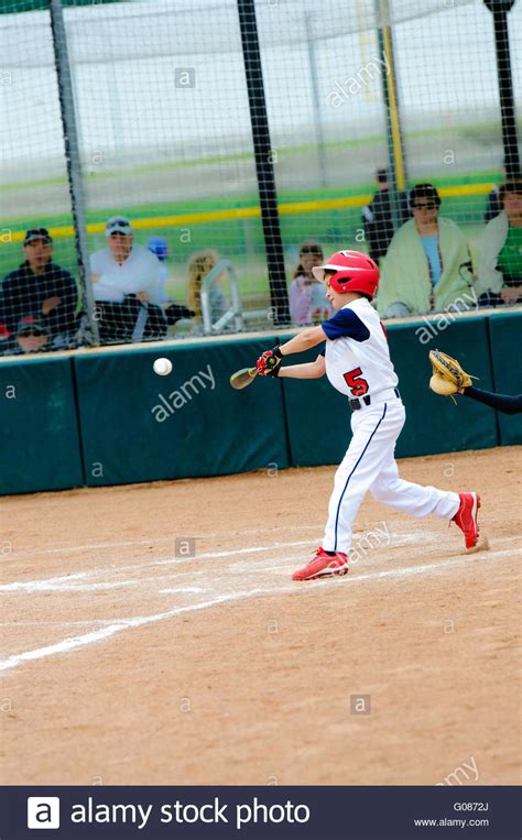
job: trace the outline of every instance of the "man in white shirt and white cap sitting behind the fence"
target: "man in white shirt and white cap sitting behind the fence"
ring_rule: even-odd
[[[108,247],[90,257],[100,339],[163,338],[166,320],[160,306],[157,258],[134,244],[131,223],[123,216],[108,219],[105,234]]]

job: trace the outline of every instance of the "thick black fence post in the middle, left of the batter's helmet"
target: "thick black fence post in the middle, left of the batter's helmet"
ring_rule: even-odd
[[[289,292],[254,0],[238,0],[238,14],[269,270],[270,304],[275,326],[284,326],[290,324]]]

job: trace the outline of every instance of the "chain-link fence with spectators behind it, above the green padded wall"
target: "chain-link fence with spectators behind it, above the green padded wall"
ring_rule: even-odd
[[[0,352],[315,323],[339,248],[383,317],[522,301],[520,2],[1,11]]]

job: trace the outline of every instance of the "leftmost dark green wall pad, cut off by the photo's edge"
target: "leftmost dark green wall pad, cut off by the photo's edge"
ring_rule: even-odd
[[[0,364],[0,493],[84,483],[70,359]]]

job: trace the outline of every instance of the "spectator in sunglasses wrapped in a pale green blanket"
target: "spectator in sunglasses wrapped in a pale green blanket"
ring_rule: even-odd
[[[471,259],[461,230],[438,216],[432,184],[410,193],[413,219],[395,232],[384,259],[377,305],[384,318],[476,306]]]

